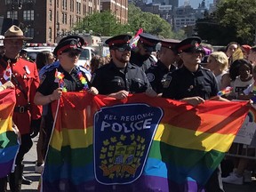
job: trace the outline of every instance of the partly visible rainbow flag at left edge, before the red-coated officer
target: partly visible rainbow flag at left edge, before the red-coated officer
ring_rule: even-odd
[[[0,178],[12,172],[19,149],[17,135],[12,130],[12,112],[15,106],[15,91],[0,92]]]

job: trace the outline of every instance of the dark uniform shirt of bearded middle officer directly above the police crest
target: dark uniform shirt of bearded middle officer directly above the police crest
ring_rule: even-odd
[[[93,73],[91,83],[104,95],[122,90],[130,93],[146,92],[151,87],[141,68],[132,66],[131,63],[125,68],[116,68],[113,60]]]

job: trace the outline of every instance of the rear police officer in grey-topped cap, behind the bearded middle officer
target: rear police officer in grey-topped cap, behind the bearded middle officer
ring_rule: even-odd
[[[148,68],[156,64],[156,60],[151,56],[156,51],[156,44],[159,38],[148,33],[141,33],[137,43],[137,47],[132,49],[130,62],[132,65],[142,68],[146,71]]]

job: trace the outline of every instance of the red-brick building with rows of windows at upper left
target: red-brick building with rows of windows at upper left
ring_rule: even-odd
[[[100,0],[1,0],[0,16],[18,20],[34,43],[56,43],[77,21],[100,12]]]

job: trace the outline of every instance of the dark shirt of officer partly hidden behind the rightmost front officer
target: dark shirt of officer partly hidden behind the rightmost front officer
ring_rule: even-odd
[[[148,70],[146,71],[148,81],[156,93],[163,92],[164,85],[166,84],[165,82],[168,82],[166,78],[168,78],[169,76],[167,76],[167,74],[175,69],[176,68],[171,65],[171,68],[169,70],[169,68],[167,68],[164,63],[161,62],[161,60],[158,60],[156,62],[156,66],[151,66],[150,68],[148,68]]]

